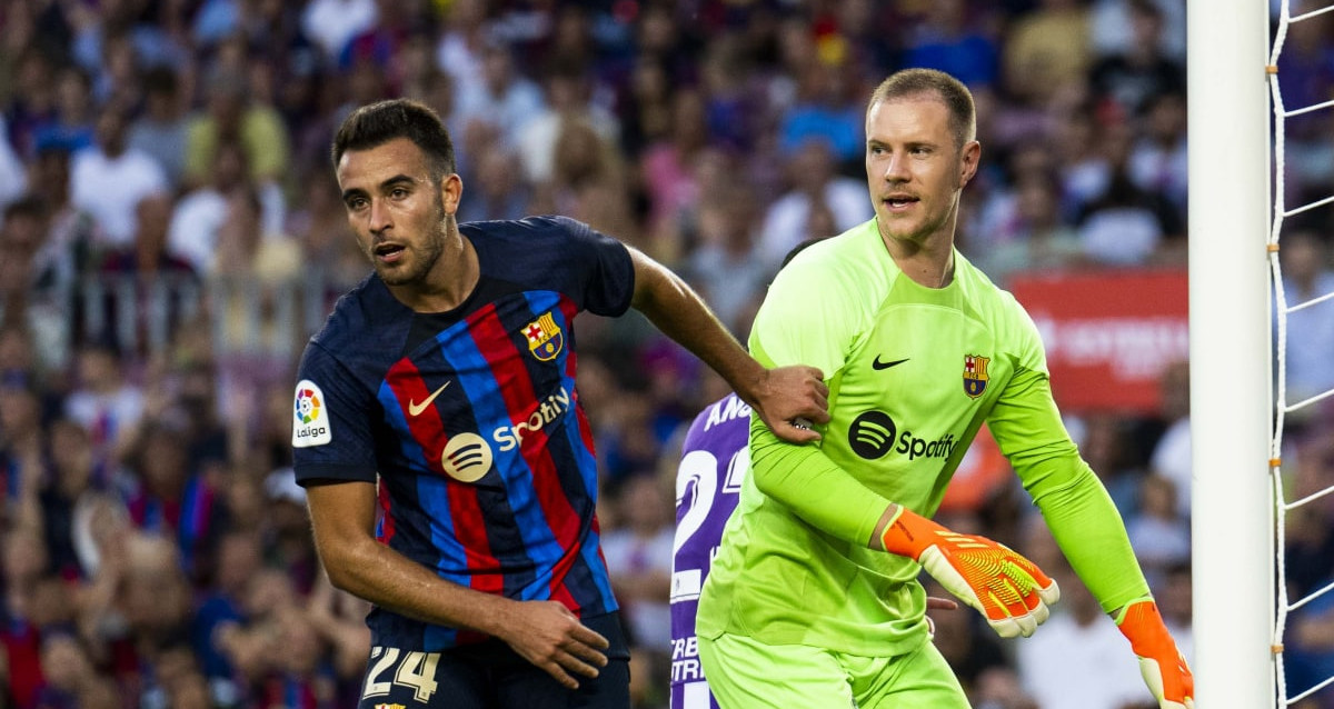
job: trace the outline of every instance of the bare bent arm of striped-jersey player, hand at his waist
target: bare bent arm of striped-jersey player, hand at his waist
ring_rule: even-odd
[[[607,638],[556,601],[512,601],[451,584],[375,540],[375,485],[331,482],[305,492],[315,546],[329,581],[418,620],[498,637],[562,685],[596,677]]]

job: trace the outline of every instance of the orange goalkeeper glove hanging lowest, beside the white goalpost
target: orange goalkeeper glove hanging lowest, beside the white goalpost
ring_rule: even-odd
[[[1139,674],[1158,700],[1158,706],[1194,709],[1195,677],[1186,665],[1186,657],[1177,649],[1177,641],[1163,625],[1158,604],[1143,600],[1126,605],[1117,617],[1117,628],[1139,657]]]

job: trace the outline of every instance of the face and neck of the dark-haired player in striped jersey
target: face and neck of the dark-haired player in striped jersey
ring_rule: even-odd
[[[426,153],[403,137],[343,153],[338,183],[358,245],[400,301],[444,312],[467,299],[478,256],[455,219],[458,175],[436,185]]]

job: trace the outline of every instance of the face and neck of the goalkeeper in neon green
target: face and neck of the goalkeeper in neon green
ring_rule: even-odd
[[[931,288],[954,273],[959,193],[982,145],[959,145],[934,93],[879,101],[866,113],[866,179],[880,239],[912,280]]]

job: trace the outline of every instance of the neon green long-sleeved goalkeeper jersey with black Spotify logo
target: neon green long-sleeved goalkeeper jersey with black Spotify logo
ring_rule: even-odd
[[[890,502],[935,513],[983,422],[1103,608],[1149,594],[1115,506],[1061,422],[1037,328],[954,260],[947,287],[922,287],[871,220],[774,280],[751,353],[824,372],[831,421],[818,445],[792,445],[752,418],[751,474],[704,584],[700,636],[867,657],[926,641],[920,566],[867,542]]]

